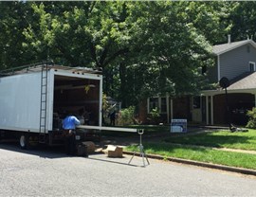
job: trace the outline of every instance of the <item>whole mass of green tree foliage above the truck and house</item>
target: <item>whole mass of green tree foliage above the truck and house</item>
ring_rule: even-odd
[[[211,45],[255,33],[254,2],[0,2],[0,69],[53,60],[102,67],[124,107],[209,86]],[[247,32],[248,29],[248,32]],[[239,36],[241,34],[241,36]]]

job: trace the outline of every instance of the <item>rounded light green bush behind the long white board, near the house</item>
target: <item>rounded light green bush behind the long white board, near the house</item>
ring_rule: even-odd
[[[130,106],[126,109],[122,109],[119,111],[117,124],[119,126],[131,125],[131,124],[134,124],[134,119],[135,119],[135,107]]]

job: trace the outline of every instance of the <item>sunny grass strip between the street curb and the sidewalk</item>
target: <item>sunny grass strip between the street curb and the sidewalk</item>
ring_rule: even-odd
[[[176,157],[193,161],[207,162],[212,164],[226,165],[256,170],[256,155],[240,152],[224,152],[210,148],[181,147],[168,143],[143,144],[147,153],[159,154],[164,157]],[[128,151],[138,151],[137,146],[130,146]]]

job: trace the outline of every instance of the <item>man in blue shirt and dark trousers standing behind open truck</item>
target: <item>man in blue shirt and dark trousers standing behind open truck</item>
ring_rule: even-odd
[[[66,116],[63,120],[64,137],[65,137],[65,152],[74,155],[76,152],[75,129],[80,125],[80,121],[76,116]]]

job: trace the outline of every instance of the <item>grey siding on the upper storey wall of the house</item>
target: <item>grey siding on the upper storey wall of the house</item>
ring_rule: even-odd
[[[232,80],[248,72],[249,62],[256,62],[256,49],[250,44],[242,45],[241,47],[220,55],[220,79],[226,77]]]

